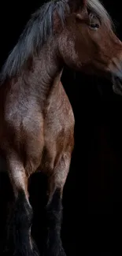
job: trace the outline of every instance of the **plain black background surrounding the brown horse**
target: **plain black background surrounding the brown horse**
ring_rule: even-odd
[[[116,24],[116,35],[122,39],[121,3],[102,2]],[[31,13],[42,3],[0,3],[1,66]],[[70,69],[64,70],[62,82],[76,118],[75,149],[63,198],[65,250],[68,256],[121,255],[122,98],[113,93],[108,80]],[[40,173],[36,174],[30,187],[35,214],[32,232],[39,247],[43,241],[44,181]],[[7,198],[7,187],[2,187]]]

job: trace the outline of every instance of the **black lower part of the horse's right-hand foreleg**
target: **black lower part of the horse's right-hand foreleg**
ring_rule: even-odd
[[[47,216],[47,243],[46,256],[65,256],[65,251],[61,244],[61,219],[62,202],[61,191],[56,189],[50,202],[46,206]]]

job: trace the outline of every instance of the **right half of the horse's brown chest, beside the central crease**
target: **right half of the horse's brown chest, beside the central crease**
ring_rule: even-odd
[[[72,107],[67,104],[52,104],[44,121],[44,147],[42,168],[51,171],[63,154],[70,153],[73,146],[74,115]],[[56,102],[55,102],[56,103]]]

